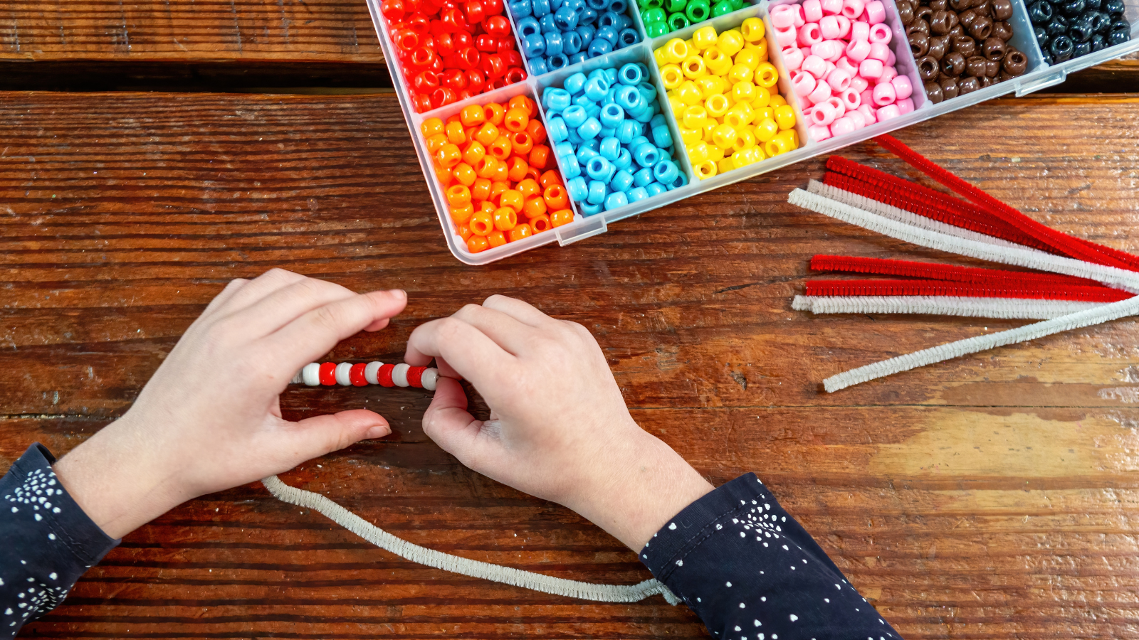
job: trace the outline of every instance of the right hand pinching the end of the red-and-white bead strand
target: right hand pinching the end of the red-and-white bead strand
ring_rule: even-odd
[[[424,430],[462,463],[570,507],[639,550],[669,518],[712,491],[683,459],[633,421],[593,336],[575,322],[491,296],[418,327],[405,361],[437,359],[491,408],[475,420],[441,377]]]

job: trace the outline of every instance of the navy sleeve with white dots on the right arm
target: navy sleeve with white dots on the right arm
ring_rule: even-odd
[[[716,640],[899,640],[754,474],[688,506],[640,552]]]

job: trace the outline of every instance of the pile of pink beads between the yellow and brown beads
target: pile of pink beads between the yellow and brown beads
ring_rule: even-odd
[[[771,24],[811,137],[826,140],[913,110],[898,75],[882,0],[804,0],[771,8]]]

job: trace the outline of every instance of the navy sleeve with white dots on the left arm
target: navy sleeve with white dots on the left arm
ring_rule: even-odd
[[[55,608],[118,544],[56,481],[55,461],[33,444],[0,478],[0,638]]]

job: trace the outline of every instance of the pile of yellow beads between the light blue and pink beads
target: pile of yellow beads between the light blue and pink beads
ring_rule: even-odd
[[[772,91],[779,72],[768,61],[760,18],[720,34],[698,28],[690,41],[674,38],[655,56],[700,180],[798,148],[795,109]]]

